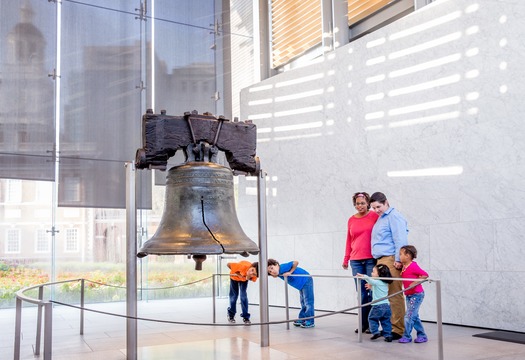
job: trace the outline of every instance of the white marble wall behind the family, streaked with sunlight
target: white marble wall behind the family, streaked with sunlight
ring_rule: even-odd
[[[445,322],[525,331],[523,18],[519,0],[438,0],[244,89],[241,119],[258,126],[269,176],[269,256],[350,275],[351,195],[382,191],[408,219],[419,264],[442,281]],[[428,169],[452,174],[407,173]],[[256,239],[255,179],[239,190]],[[282,305],[282,281],[269,282],[270,304]],[[315,286],[316,308],[356,303],[352,280]],[[421,314],[435,320],[436,287],[425,289]]]

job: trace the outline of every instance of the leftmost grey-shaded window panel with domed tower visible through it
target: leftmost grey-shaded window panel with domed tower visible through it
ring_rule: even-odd
[[[0,178],[53,180],[55,6],[0,2]]]

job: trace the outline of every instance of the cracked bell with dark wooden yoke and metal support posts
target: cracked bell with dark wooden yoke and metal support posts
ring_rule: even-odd
[[[202,269],[206,255],[259,255],[259,275],[267,274],[266,174],[260,170],[257,127],[252,121],[230,122],[223,116],[186,112],[184,116],[142,117],[143,147],[127,174],[127,359],[137,358],[137,257],[192,255]],[[168,158],[181,150],[182,165],[169,170]],[[229,168],[218,163],[222,151]],[[136,169],[168,170],[165,203],[159,226],[137,251]],[[233,175],[257,176],[259,245],[242,230],[235,211]],[[261,346],[269,345],[268,278],[260,279]]]

